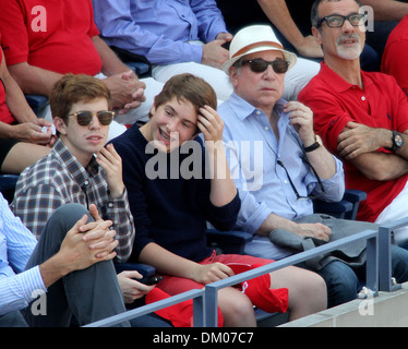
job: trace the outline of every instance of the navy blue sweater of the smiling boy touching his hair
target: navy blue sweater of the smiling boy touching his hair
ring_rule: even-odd
[[[218,230],[232,229],[241,202],[237,194],[225,206],[216,207],[211,203],[211,180],[204,174],[202,141],[199,137],[194,141],[194,155],[191,155],[192,152],[180,154],[183,152],[180,148],[170,154],[158,154],[157,151],[146,154],[147,141],[133,125],[111,143],[122,158],[123,182],[135,225],[135,241],[129,261],[137,262],[139,254],[151,242],[194,262],[209,256],[212,249],[206,244],[206,221]],[[194,167],[191,164],[193,156]],[[199,170],[201,176],[184,179],[182,173],[178,173],[180,166],[189,164],[191,171]],[[152,179],[152,170],[156,169],[157,172],[153,172],[159,173],[159,168],[164,169],[159,178]]]

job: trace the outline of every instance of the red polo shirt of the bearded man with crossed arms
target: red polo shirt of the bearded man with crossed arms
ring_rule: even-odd
[[[298,100],[314,113],[314,129],[324,144],[338,156],[337,139],[347,122],[404,132],[408,130],[408,103],[394,77],[361,72],[364,89],[351,85],[326,64],[299,94]],[[379,149],[379,152],[387,152]],[[405,186],[408,174],[392,181],[375,181],[343,159],[346,188],[367,192],[357,218],[374,221]]]

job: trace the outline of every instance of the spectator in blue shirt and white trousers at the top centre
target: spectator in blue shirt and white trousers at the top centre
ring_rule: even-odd
[[[231,3],[233,8],[236,3]],[[241,2],[240,2],[241,7]],[[153,77],[166,82],[179,73],[193,73],[207,81],[219,101],[232,88],[220,70],[228,59],[224,46],[232,39],[214,0],[94,1],[95,22],[112,46],[145,56]],[[319,72],[319,64],[300,60],[286,77],[285,96],[296,99],[299,91]]]

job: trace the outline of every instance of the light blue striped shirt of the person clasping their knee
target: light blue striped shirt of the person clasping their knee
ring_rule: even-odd
[[[46,291],[39,267],[24,270],[37,241],[0,194],[0,315],[26,308]]]

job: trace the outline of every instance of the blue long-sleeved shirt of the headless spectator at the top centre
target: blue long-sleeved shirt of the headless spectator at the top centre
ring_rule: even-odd
[[[95,23],[110,46],[153,64],[201,62],[208,43],[227,32],[214,0],[93,0]]]

